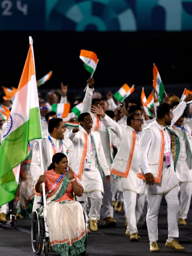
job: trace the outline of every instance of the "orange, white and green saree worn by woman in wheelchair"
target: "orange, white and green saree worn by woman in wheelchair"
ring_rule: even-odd
[[[54,170],[46,171],[45,189],[50,190],[61,175]],[[73,177],[78,185],[77,175]],[[47,226],[51,246],[61,256],[77,256],[86,250],[86,230],[83,208],[73,201],[72,184],[65,175],[51,194],[47,194]]]

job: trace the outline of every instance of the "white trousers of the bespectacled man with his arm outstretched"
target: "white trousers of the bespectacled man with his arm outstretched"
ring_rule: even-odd
[[[123,204],[127,219],[127,229],[130,234],[138,233],[137,223],[141,217],[145,196],[137,194],[133,191],[123,191]]]

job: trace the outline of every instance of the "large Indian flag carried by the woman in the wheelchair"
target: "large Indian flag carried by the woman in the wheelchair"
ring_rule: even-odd
[[[30,41],[32,43],[31,38]],[[28,142],[39,138],[42,138],[39,101],[33,45],[30,44],[0,147],[0,205],[14,198],[20,163],[27,157]]]

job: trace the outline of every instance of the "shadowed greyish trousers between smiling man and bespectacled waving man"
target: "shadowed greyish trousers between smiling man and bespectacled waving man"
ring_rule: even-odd
[[[103,188],[104,188],[104,194],[103,195],[103,219],[111,216],[113,217],[113,203],[112,203],[112,192],[111,192],[111,184],[113,180],[113,176],[110,177],[110,182],[105,182],[105,175],[103,174]]]

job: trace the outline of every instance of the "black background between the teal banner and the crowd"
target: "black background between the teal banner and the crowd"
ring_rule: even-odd
[[[135,84],[135,95],[144,86],[148,97],[152,90],[153,63],[158,68],[167,93],[181,97],[191,89],[191,32],[0,32],[0,84],[17,87],[33,38],[36,78],[50,70],[53,75],[39,90],[69,85],[73,97],[84,95],[90,73],[79,59],[81,49],[99,58],[94,74],[95,90],[114,93],[124,83]],[[105,87],[105,89],[104,89]]]

